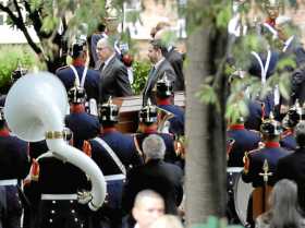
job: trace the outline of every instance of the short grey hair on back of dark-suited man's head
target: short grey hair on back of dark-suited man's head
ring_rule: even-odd
[[[161,136],[151,134],[142,144],[143,153],[147,158],[163,159],[166,155],[166,144]]]

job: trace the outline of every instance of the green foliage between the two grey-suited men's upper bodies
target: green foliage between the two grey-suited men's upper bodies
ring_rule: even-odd
[[[132,88],[136,95],[143,91],[150,68],[151,64],[148,61],[135,61],[133,63],[134,82]]]

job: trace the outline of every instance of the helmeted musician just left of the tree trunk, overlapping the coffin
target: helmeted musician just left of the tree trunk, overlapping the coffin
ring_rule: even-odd
[[[184,111],[172,104],[174,96],[173,82],[163,76],[161,80],[158,80],[156,87],[157,106],[174,115],[169,119],[169,133],[184,135]]]

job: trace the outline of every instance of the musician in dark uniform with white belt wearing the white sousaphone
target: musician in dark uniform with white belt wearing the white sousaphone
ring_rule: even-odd
[[[63,137],[72,143],[72,132],[65,128]],[[35,220],[38,228],[84,227],[85,214],[77,202],[77,192],[89,188],[86,175],[69,161],[62,161],[46,153],[33,161],[30,180],[40,197],[38,216]]]

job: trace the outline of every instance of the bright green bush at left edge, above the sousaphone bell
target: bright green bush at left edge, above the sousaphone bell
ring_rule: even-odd
[[[30,69],[37,59],[26,46],[0,47],[0,93],[7,93],[11,85],[11,73],[17,68],[19,61],[23,68]]]

